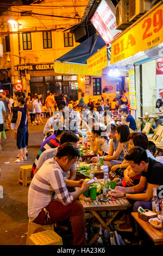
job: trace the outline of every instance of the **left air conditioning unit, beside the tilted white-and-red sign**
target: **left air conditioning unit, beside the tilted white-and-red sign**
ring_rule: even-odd
[[[129,26],[129,0],[120,0],[116,5],[117,29],[124,30]]]

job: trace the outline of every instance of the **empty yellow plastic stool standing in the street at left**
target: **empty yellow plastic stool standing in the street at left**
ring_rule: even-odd
[[[30,178],[30,174],[32,172],[32,165],[30,166],[21,166],[19,169],[19,178],[18,182],[23,184],[23,187],[26,186],[27,184],[30,184],[32,179]]]

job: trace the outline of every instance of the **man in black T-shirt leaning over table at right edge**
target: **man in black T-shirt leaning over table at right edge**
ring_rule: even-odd
[[[135,172],[135,175],[141,175],[140,182],[138,185],[133,187],[117,186],[114,191],[109,192],[109,195],[114,198],[124,197],[133,200],[134,212],[137,211],[139,206],[141,206],[143,209],[152,210],[154,187],[158,189],[158,198],[161,199],[159,197],[161,193],[159,192],[162,187],[161,185],[163,185],[163,164],[151,159],[150,157],[147,157],[146,150],[138,146],[130,149],[129,154],[125,156],[125,159],[129,162],[129,165],[131,166],[133,172]],[[147,182],[148,187],[146,190]],[[125,225],[127,224],[129,223],[125,223]]]

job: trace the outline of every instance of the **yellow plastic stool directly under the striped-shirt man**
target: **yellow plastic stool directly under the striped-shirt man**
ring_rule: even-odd
[[[26,245],[29,245],[29,236],[30,235],[44,231],[44,230],[54,230],[54,224],[40,225],[40,224],[36,224],[36,223],[30,221],[30,219],[29,219]]]

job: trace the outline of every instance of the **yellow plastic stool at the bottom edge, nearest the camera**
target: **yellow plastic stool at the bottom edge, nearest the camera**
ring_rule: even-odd
[[[62,238],[53,230],[45,230],[29,237],[29,245],[63,245]]]

